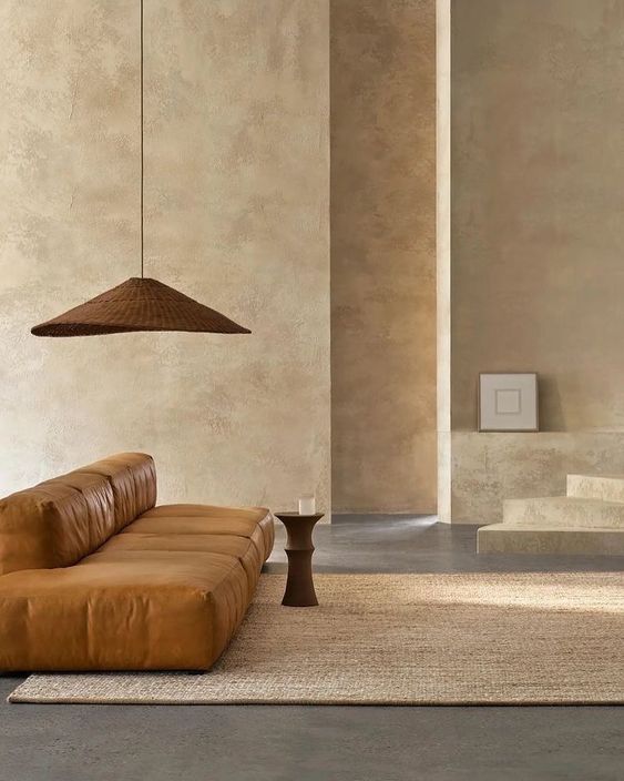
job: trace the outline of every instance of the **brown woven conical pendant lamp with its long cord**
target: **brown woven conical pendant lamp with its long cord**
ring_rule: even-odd
[[[143,276],[144,268],[144,154],[143,154],[143,0],[141,7],[141,276],[41,325],[35,336],[95,336],[131,331],[193,331],[212,334],[250,334],[248,328],[211,310],[168,285]]]

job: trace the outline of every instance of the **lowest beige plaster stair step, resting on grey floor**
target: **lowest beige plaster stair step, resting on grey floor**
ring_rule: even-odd
[[[477,552],[624,556],[624,529],[492,524],[477,532]]]

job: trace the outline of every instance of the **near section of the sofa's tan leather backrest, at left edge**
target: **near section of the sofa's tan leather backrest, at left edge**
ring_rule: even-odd
[[[111,484],[71,473],[0,500],[0,575],[69,567],[114,534]]]

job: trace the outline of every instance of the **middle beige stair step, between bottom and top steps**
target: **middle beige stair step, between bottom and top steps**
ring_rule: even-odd
[[[624,529],[624,504],[569,496],[508,499],[503,523],[542,528]]]

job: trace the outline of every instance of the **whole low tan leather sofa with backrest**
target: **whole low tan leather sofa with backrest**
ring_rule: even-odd
[[[205,670],[274,541],[263,508],[156,507],[126,453],[0,500],[0,670]]]

